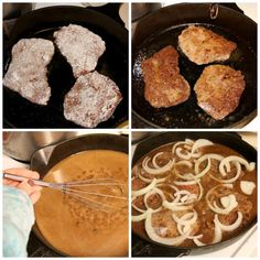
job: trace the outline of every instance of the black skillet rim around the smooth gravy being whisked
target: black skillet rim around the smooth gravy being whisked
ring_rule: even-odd
[[[58,144],[42,148],[33,153],[31,158],[31,170],[40,173],[40,178],[63,159],[73,154],[88,150],[111,150],[128,154],[128,138],[116,134],[86,134],[73,138]],[[61,220],[61,219],[59,219]],[[36,237],[55,252],[65,256],[58,251],[41,234],[35,223],[33,231]]]

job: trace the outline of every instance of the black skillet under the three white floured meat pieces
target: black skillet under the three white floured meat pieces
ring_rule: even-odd
[[[119,23],[97,11],[79,7],[50,7],[21,17],[10,40],[4,41],[4,73],[11,62],[12,46],[23,37],[53,40],[53,33],[71,23],[86,26],[106,42],[106,52],[96,71],[110,77],[123,96],[112,117],[98,128],[115,128],[128,119],[128,32]],[[57,47],[48,65],[52,96],[47,106],[34,105],[8,88],[3,90],[4,124],[11,128],[80,128],[63,116],[65,94],[73,87],[72,68]]]

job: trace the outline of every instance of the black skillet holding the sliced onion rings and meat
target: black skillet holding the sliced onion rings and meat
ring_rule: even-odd
[[[160,134],[154,134],[153,137],[150,137],[145,139],[144,141],[140,142],[137,145],[137,149],[134,151],[133,158],[132,158],[132,166],[136,165],[136,163],[147,153],[152,151],[153,149],[156,149],[161,145],[164,145],[166,143],[176,142],[176,141],[183,141],[186,138],[196,140],[196,139],[208,139],[215,143],[224,144],[228,148],[231,148],[232,150],[237,151],[241,155],[243,155],[248,161],[250,162],[257,162],[257,151],[254,148],[252,148],[247,142],[242,141],[241,138],[236,133],[229,133],[229,132],[164,132]],[[141,236],[140,234],[136,234],[138,237],[144,239],[145,241],[149,241],[150,243],[147,245],[149,250],[147,250],[147,254],[153,256],[153,257],[163,257],[163,256],[178,256],[178,254],[187,254],[191,250],[196,250],[197,253],[205,253],[209,251],[214,251],[224,247],[227,247],[235,242],[241,235],[243,235],[246,231],[248,231],[253,225],[257,223],[257,217],[253,219],[251,224],[249,224],[247,227],[245,227],[241,232],[239,232],[237,236],[229,238],[226,241],[218,242],[215,245],[204,246],[204,247],[194,247],[194,248],[185,248],[185,247],[170,247],[165,245],[161,245],[158,242],[152,241],[149,239],[148,236]],[[133,236],[134,243],[138,242],[138,239]],[[143,241],[141,241],[143,243]],[[134,248],[133,248],[134,249]],[[132,251],[132,256],[138,254],[139,252],[137,250]],[[138,254],[141,257],[140,254]],[[147,256],[147,257],[149,257]]]

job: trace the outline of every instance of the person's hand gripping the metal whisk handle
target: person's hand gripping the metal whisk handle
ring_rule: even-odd
[[[35,180],[40,178],[40,175],[37,172],[33,172],[33,171],[30,171],[28,169],[22,169],[22,167],[21,169],[8,169],[8,170],[4,170],[3,172],[26,177],[26,180],[23,182],[17,182],[17,181],[3,178],[3,184],[22,189],[24,193],[28,194],[32,204],[35,204],[39,201],[39,198],[41,196],[42,187],[39,185],[30,185],[28,183],[28,181],[30,178],[35,178]]]

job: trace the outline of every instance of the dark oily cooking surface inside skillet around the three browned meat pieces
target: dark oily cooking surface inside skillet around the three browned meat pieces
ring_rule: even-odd
[[[238,13],[238,15],[241,14]],[[156,14],[154,14],[154,19],[155,17]],[[203,20],[205,22],[203,22]],[[229,29],[228,25],[223,26],[215,24],[214,22],[208,23],[206,18],[197,19],[198,22],[194,21],[196,21],[196,19],[193,19],[192,22],[189,22],[188,19],[183,19],[183,23],[182,19],[181,22],[177,20],[176,23],[180,24],[172,26],[166,25],[163,30],[159,29],[150,35],[140,36],[139,40],[143,39],[143,41],[140,41],[138,44],[133,43],[133,111],[150,124],[163,128],[226,128],[238,127],[245,120],[250,121],[257,113],[257,54],[254,46],[243,37],[238,36],[238,34]],[[208,28],[217,34],[236,42],[238,45],[237,50],[231,54],[231,57],[228,61],[216,63],[228,65],[235,69],[241,71],[246,80],[246,89],[241,96],[238,108],[223,120],[214,120],[197,106],[196,95],[193,88],[203,69],[208,65],[196,65],[191,62],[178,47],[177,37],[189,24]],[[139,33],[142,34],[142,30],[140,30]],[[150,106],[150,104],[144,99],[144,82],[141,62],[152,56],[166,45],[172,45],[177,50],[180,54],[178,65],[181,74],[188,82],[192,91],[187,101],[171,108],[156,109]]]

